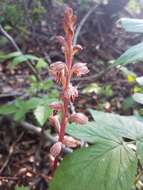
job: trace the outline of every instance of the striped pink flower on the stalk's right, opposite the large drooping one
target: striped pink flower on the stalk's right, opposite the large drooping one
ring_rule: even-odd
[[[72,73],[76,74],[78,77],[87,74],[89,72],[89,69],[86,65],[87,63],[75,63],[72,67]]]

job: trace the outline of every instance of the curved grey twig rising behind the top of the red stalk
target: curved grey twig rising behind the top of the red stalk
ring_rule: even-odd
[[[86,20],[88,19],[88,17],[95,11],[95,9],[98,7],[98,5],[95,5],[92,9],[90,9],[87,14],[83,17],[83,19],[81,20],[81,22],[79,23],[75,35],[74,35],[74,39],[73,39],[73,45],[77,44],[77,39],[79,36],[79,33],[81,31],[81,28],[83,27],[84,23],[86,22]]]

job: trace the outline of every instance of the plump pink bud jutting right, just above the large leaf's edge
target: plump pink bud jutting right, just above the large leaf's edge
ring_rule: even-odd
[[[83,113],[73,113],[69,119],[77,124],[86,124],[88,122],[88,117]]]

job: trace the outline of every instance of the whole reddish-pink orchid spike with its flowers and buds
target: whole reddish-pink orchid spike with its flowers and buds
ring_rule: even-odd
[[[81,45],[77,44],[73,46],[73,37],[75,30],[76,17],[73,15],[73,10],[69,7],[66,8],[63,20],[63,26],[65,31],[65,37],[57,36],[58,42],[62,46],[62,50],[65,56],[65,63],[58,61],[50,65],[50,74],[55,80],[55,82],[62,87],[62,92],[60,99],[62,103],[54,102],[50,104],[50,108],[53,109],[53,116],[50,117],[50,123],[54,125],[56,131],[58,132],[59,138],[58,142],[55,143],[51,149],[50,153],[54,157],[54,163],[52,170],[54,171],[57,167],[58,157],[62,151],[62,144],[67,146],[68,144],[75,144],[73,138],[68,139],[65,137],[65,128],[68,121],[75,122],[78,124],[85,124],[88,122],[88,118],[83,113],[69,113],[68,106],[71,102],[75,101],[78,97],[78,90],[71,83],[71,78],[73,75],[80,77],[89,72],[86,63],[75,63],[73,64],[73,57],[79,51],[82,50]],[[57,117],[56,114],[60,114]],[[75,146],[75,145],[74,145]]]

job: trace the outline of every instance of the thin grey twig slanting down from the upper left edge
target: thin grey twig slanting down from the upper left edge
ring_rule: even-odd
[[[12,36],[10,36],[7,31],[4,30],[4,28],[2,27],[2,25],[0,24],[0,31],[2,32],[2,34],[11,42],[11,44],[13,45],[13,47],[19,51],[23,56],[23,52],[21,51],[21,49],[19,48],[19,46],[17,45],[17,43],[14,41],[14,39],[12,38]],[[31,69],[32,73],[35,75],[35,77],[37,78],[37,80],[41,80],[40,76],[37,73],[37,70],[33,67],[32,64],[34,64],[34,62],[31,60],[31,63],[29,61],[26,61],[28,67]]]

